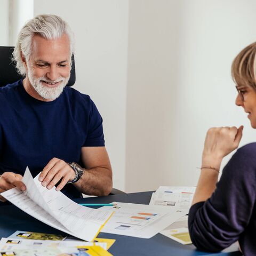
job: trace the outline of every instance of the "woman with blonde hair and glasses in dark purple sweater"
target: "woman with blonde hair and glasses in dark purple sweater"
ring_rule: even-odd
[[[256,128],[256,43],[242,50],[231,68],[238,95]],[[189,211],[191,241],[200,250],[221,251],[239,241],[244,255],[256,255],[256,143],[239,148],[222,171],[223,157],[236,149],[243,126],[211,128],[205,138],[201,175]]]

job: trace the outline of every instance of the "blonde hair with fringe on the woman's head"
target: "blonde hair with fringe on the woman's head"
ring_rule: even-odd
[[[256,91],[256,42],[238,53],[231,67],[231,75],[238,87],[250,86]]]

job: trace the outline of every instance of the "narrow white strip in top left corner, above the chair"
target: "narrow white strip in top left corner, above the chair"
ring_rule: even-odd
[[[9,2],[1,0],[0,8],[0,46],[9,45]]]

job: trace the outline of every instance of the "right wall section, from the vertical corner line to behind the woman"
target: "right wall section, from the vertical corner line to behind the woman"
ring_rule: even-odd
[[[254,141],[230,66],[256,39],[255,10],[249,0],[130,0],[126,191],[195,186],[211,126],[243,124],[241,145]]]

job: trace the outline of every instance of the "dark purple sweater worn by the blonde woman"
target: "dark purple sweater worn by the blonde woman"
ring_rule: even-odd
[[[191,241],[215,252],[238,240],[244,255],[256,255],[255,199],[256,143],[250,143],[231,157],[211,198],[191,207]]]

